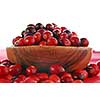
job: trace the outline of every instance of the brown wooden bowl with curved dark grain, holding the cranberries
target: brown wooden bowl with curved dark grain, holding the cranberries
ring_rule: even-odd
[[[51,64],[61,64],[67,71],[83,69],[91,58],[89,47],[19,46],[6,48],[8,59],[23,66],[35,65],[48,71]]]

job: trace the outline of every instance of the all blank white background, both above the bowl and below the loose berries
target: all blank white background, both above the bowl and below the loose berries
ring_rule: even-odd
[[[99,0],[0,0],[0,47],[37,22],[66,26],[100,51]],[[99,84],[0,84],[1,100],[95,100],[99,94]]]

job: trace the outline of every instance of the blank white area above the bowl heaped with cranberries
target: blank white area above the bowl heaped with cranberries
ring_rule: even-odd
[[[87,37],[90,47],[100,50],[99,8],[99,0],[0,1],[0,46],[12,45],[29,23],[54,22]]]

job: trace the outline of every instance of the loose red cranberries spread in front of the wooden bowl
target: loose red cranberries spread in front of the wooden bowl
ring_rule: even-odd
[[[24,68],[9,60],[0,61],[0,83],[83,83],[88,77],[96,76],[100,71],[100,61],[89,64],[85,69],[67,72],[60,64],[53,64],[49,73],[39,72],[37,66]]]

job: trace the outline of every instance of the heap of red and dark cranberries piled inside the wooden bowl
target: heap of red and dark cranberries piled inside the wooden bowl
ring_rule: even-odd
[[[58,27],[56,24],[41,23],[29,24],[20,36],[12,40],[14,46],[84,46],[89,45],[86,38],[79,38],[77,33],[71,32],[66,27]]]

